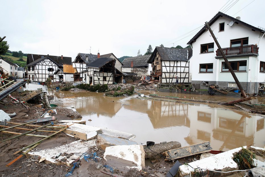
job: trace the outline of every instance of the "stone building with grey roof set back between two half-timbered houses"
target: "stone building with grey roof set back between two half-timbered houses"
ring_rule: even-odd
[[[150,75],[151,64],[147,63],[150,56],[135,56],[123,60],[122,72],[125,75],[126,82],[133,82],[134,78],[138,80],[142,76]]]

